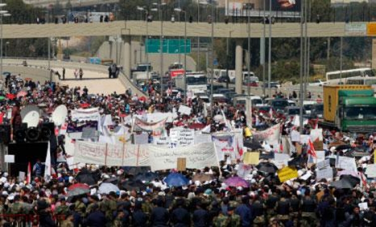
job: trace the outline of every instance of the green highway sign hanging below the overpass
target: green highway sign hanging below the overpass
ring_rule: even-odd
[[[186,40],[184,46],[184,39],[163,39],[163,53],[168,54],[181,54],[191,53],[191,40]],[[146,53],[160,53],[160,40],[159,39],[146,39]]]

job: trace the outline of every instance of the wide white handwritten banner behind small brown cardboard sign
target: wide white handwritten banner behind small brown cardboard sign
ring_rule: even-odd
[[[218,158],[213,143],[202,143],[189,147],[164,149],[157,146],[149,147],[151,171],[176,168],[177,158],[185,158],[186,168],[200,169],[217,166]]]

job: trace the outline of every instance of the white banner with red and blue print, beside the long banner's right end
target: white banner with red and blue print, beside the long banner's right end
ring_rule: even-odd
[[[212,141],[216,146],[217,155],[220,160],[224,160],[225,155],[229,155],[233,160],[237,158],[234,137],[231,134],[212,135]]]

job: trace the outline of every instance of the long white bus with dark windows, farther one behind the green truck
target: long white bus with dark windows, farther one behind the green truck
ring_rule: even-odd
[[[326,81],[331,84],[345,82],[346,79],[353,77],[374,77],[374,72],[371,68],[357,68],[326,73]]]

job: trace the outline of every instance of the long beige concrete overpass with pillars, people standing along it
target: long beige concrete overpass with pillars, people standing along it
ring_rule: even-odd
[[[161,25],[162,23],[162,25]],[[345,32],[345,23],[308,23],[308,37],[347,37],[351,36]],[[51,38],[51,37],[71,37],[71,36],[124,36],[120,44],[123,50],[122,66],[127,75],[131,69],[131,37],[132,36],[157,36],[163,26],[164,37],[176,37],[184,35],[184,22],[169,21],[115,21],[110,23],[69,23],[69,24],[25,24],[25,25],[4,25],[3,38]],[[215,38],[228,38],[236,40],[236,91],[242,91],[242,66],[243,47],[242,39],[248,38],[247,24],[225,24],[215,23],[213,36]],[[266,25],[267,27],[269,25]],[[273,38],[293,38],[300,37],[300,23],[276,23],[271,25]],[[251,23],[251,38],[261,38],[263,36],[264,25],[261,23]],[[231,35],[230,35],[231,34]],[[190,37],[212,37],[212,24],[208,23],[186,23],[186,36]],[[354,34],[353,36],[358,36]],[[269,37],[268,29],[266,37]],[[376,60],[376,40],[372,41],[372,63]],[[373,64],[372,64],[373,65]]]

